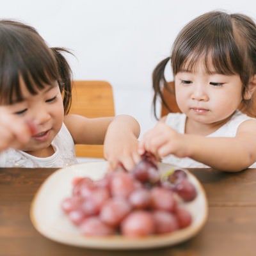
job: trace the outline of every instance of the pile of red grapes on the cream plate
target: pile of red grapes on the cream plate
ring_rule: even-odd
[[[195,197],[184,170],[160,175],[146,154],[132,172],[106,173],[95,181],[77,177],[61,207],[84,236],[143,237],[188,227],[192,216],[180,201]]]

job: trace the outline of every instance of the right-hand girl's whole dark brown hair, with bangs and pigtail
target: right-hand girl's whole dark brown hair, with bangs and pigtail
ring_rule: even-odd
[[[162,93],[163,86],[168,88],[164,77],[168,61],[171,61],[175,76],[182,68],[193,70],[202,58],[209,73],[211,61],[220,74],[239,74],[244,95],[250,78],[256,74],[256,26],[253,20],[239,13],[208,12],[189,22],[175,39],[171,56],[161,61],[152,74],[156,117],[158,97],[168,108]],[[250,103],[251,100],[243,99],[244,106],[249,108]]]

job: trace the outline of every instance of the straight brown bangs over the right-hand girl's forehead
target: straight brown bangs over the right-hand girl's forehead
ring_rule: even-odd
[[[204,22],[196,19],[180,32],[172,51],[174,75],[182,70],[195,72],[199,63],[204,64],[209,74],[240,74],[243,63],[234,40],[232,22],[225,15],[214,18],[204,18]]]

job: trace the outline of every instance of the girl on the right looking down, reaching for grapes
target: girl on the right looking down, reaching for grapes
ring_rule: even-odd
[[[153,72],[154,104],[163,100],[164,68],[171,61],[175,99],[169,113],[146,132],[139,152],[181,167],[238,172],[256,166],[256,120],[244,115],[256,88],[256,26],[243,14],[209,12],[189,22],[170,57]],[[254,164],[254,165],[253,165]]]

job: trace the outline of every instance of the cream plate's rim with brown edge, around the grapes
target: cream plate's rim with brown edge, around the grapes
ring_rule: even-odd
[[[62,172],[70,172],[70,169],[74,168],[84,168],[84,166],[90,166],[92,164],[99,164],[99,165],[106,165],[106,161],[90,161],[87,163],[78,163],[73,164],[70,166],[67,166],[65,168],[59,168],[58,170],[55,170],[54,172],[49,175],[44,182],[40,185],[40,187],[37,189],[35,196],[33,197],[33,200],[31,201],[31,206],[29,209],[29,216],[31,223],[35,227],[35,229],[42,234],[42,236],[47,237],[48,239],[51,239],[52,241],[56,241],[58,243],[62,244],[68,244],[70,246],[77,246],[82,248],[91,248],[91,249],[101,249],[101,250],[135,250],[135,249],[147,249],[147,248],[158,248],[163,246],[172,246],[178,243],[181,243],[182,241],[186,241],[190,239],[191,237],[195,236],[201,229],[204,227],[205,222],[207,221],[207,217],[209,214],[209,206],[207,202],[207,196],[205,194],[205,190],[202,186],[202,184],[199,182],[199,180],[195,177],[195,175],[186,168],[181,168],[182,170],[185,170],[188,175],[191,177],[191,179],[194,179],[196,182],[196,185],[199,187],[201,196],[204,199],[205,207],[204,207],[204,217],[200,221],[199,225],[196,225],[196,227],[188,227],[184,229],[177,230],[171,234],[157,234],[147,237],[121,237],[118,235],[114,236],[108,236],[108,237],[86,237],[81,234],[77,234],[78,237],[83,239],[84,243],[81,243],[81,239],[78,239],[77,241],[72,239],[66,238],[63,239],[63,234],[58,234],[60,231],[54,230],[51,227],[44,227],[43,225],[40,225],[38,220],[36,220],[35,216],[35,210],[38,204],[38,196],[42,193],[42,190],[44,189],[45,184],[49,182],[54,176],[61,175]],[[165,164],[165,163],[159,163],[164,164],[166,166],[173,166],[172,164]],[[175,168],[179,168],[177,166],[173,166]],[[122,243],[120,243],[122,242]]]

